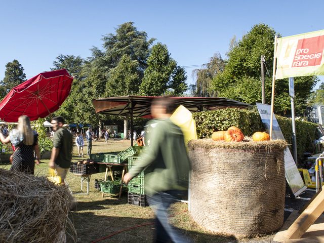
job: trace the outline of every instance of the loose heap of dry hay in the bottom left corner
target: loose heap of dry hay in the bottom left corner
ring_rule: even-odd
[[[69,192],[46,177],[0,169],[0,242],[75,241]]]

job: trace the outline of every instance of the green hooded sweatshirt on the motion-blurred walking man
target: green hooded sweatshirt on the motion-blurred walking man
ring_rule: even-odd
[[[146,134],[149,146],[130,175],[135,177],[145,169],[144,188],[149,196],[167,190],[186,190],[190,160],[181,129],[169,118],[153,119]]]

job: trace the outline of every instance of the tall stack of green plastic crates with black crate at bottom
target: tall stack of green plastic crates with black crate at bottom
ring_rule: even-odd
[[[128,170],[140,161],[140,156],[128,157]],[[141,207],[147,206],[144,191],[144,172],[142,171],[128,183],[128,203]]]

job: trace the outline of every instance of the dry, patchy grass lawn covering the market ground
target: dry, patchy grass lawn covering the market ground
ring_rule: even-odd
[[[93,141],[93,153],[121,151],[130,146],[130,140]],[[87,146],[84,147],[85,154]],[[86,156],[86,155],[85,155]],[[73,161],[78,160],[76,147],[73,147]],[[36,175],[47,175],[49,160],[42,160],[42,164],[36,166]],[[10,165],[5,166],[6,169]],[[127,193],[120,200],[116,196],[105,193],[104,198],[100,191],[94,189],[94,179],[104,178],[104,173],[91,176],[90,193],[80,193],[80,177],[68,173],[66,181],[77,200],[77,210],[71,212],[70,217],[77,231],[77,242],[92,242],[96,239],[110,235],[113,232],[125,228],[153,222],[153,211],[150,207],[132,206],[127,203]],[[84,191],[86,191],[84,183]],[[265,236],[254,239],[235,239],[224,235],[212,234],[198,226],[190,217],[188,205],[176,203],[172,206],[172,214],[176,214],[171,223],[182,229],[184,234],[189,235],[194,242],[271,242],[273,236]],[[153,225],[138,227],[132,230],[118,233],[109,239],[100,242],[152,242]],[[72,242],[72,241],[69,241]]]

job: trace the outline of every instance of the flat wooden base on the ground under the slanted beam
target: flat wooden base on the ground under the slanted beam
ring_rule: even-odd
[[[284,226],[274,236],[273,241],[284,243],[324,243],[324,216],[320,216],[314,224],[312,224],[306,233],[299,239],[287,239],[286,232],[289,226],[298,218],[298,211],[293,211],[286,220]]]

